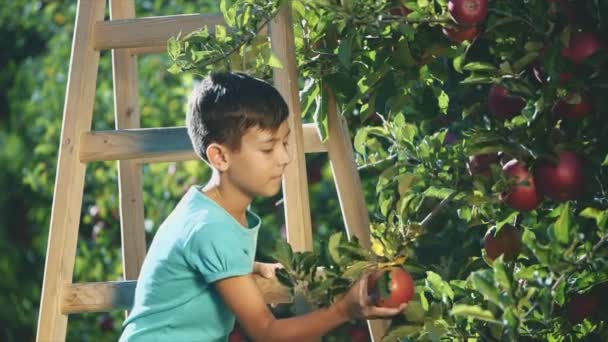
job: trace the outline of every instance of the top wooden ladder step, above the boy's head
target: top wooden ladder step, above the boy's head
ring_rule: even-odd
[[[167,51],[167,40],[180,32],[186,35],[203,26],[209,32],[225,24],[222,14],[181,14],[99,21],[95,24],[96,50],[132,48],[133,53]],[[266,34],[264,28],[260,33]]]

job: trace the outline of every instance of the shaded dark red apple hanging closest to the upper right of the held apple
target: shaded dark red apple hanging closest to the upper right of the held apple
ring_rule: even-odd
[[[521,253],[521,232],[510,225],[502,227],[496,234],[496,227],[488,230],[484,237],[484,249],[488,259],[494,259],[503,255],[503,260],[515,260]]]

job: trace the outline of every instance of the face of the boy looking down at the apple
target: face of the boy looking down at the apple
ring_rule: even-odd
[[[275,132],[248,129],[241,138],[241,148],[230,153],[228,180],[252,197],[276,195],[285,166],[291,161],[289,134],[287,121]]]

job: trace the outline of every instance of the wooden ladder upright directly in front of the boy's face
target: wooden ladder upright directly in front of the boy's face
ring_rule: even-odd
[[[283,176],[283,198],[285,199],[285,221],[287,240],[294,250],[312,250],[312,228],[304,137],[300,98],[298,94],[298,70],[295,55],[291,5],[286,2],[271,23],[272,50],[283,64],[274,70],[274,83],[289,106],[289,146],[292,161]]]

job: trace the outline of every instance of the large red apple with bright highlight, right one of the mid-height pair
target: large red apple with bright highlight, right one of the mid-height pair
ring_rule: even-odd
[[[562,151],[556,165],[544,163],[536,168],[535,179],[539,192],[554,200],[577,199],[585,186],[583,161],[574,152]]]

